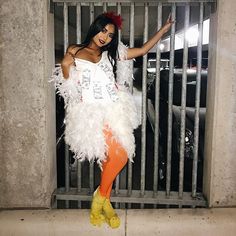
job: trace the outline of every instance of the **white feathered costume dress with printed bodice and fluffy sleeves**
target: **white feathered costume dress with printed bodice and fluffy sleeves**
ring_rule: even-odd
[[[76,159],[96,160],[102,165],[107,153],[105,128],[112,131],[130,160],[134,156],[133,130],[138,127],[139,119],[127,89],[132,71],[130,62],[122,60],[126,58],[126,50],[120,43],[117,82],[107,52],[102,53],[98,63],[75,58],[68,79],[63,78],[61,67],[53,73],[56,90],[65,102],[65,142]]]

